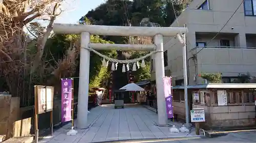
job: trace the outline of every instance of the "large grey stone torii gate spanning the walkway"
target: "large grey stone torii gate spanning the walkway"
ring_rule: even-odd
[[[78,112],[77,128],[85,129],[88,127],[88,92],[89,92],[89,69],[90,69],[90,50],[147,50],[157,51],[155,53],[156,69],[156,88],[157,88],[157,108],[158,124],[167,125],[167,113],[164,97],[164,57],[163,57],[163,36],[177,36],[182,42],[180,34],[187,33],[185,27],[138,27],[138,26],[105,26],[105,25],[83,25],[83,24],[53,24],[53,31],[56,34],[80,34],[80,71],[79,71],[79,90],[78,90]],[[90,43],[90,34],[108,36],[140,36],[154,37],[152,45],[137,44],[101,44]],[[184,44],[184,43],[183,43]],[[87,47],[87,48],[84,48]],[[184,46],[185,47],[185,44]],[[184,51],[184,49],[183,49]],[[184,56],[184,55],[183,55]],[[184,64],[183,64],[184,65]],[[185,73],[185,72],[184,72]],[[185,80],[184,80],[185,81]],[[185,83],[186,84],[186,83]],[[186,91],[185,91],[186,92]]]

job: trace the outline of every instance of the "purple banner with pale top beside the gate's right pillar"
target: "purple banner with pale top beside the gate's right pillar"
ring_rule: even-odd
[[[173,118],[173,94],[172,94],[172,77],[163,77],[164,97],[166,103],[167,117]]]

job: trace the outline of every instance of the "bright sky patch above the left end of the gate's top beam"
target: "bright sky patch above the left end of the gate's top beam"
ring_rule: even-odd
[[[104,0],[67,0],[61,6],[65,11],[60,14],[55,23],[78,23],[78,20],[86,15],[88,11],[103,3]]]

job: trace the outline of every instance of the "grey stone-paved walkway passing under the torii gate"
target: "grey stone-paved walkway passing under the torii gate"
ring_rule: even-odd
[[[90,128],[77,130],[78,134],[67,136],[71,128],[68,124],[54,132],[52,137],[45,137],[39,142],[85,143],[110,140],[192,137],[196,136],[195,129],[191,133],[170,133],[168,127],[155,126],[157,114],[140,105],[125,105],[122,109],[114,109],[113,105],[102,105],[93,108],[88,115]],[[173,124],[172,122],[170,124]],[[174,123],[177,128],[181,123]]]

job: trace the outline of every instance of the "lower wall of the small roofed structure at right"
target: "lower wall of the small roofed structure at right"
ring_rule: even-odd
[[[178,119],[185,120],[184,101],[173,101],[173,106],[174,113],[178,115]],[[228,106],[206,106],[192,104],[192,108],[204,109],[205,122],[201,123],[202,128],[204,129],[232,129],[241,127],[245,129],[247,127],[255,126],[255,106],[253,104]]]

